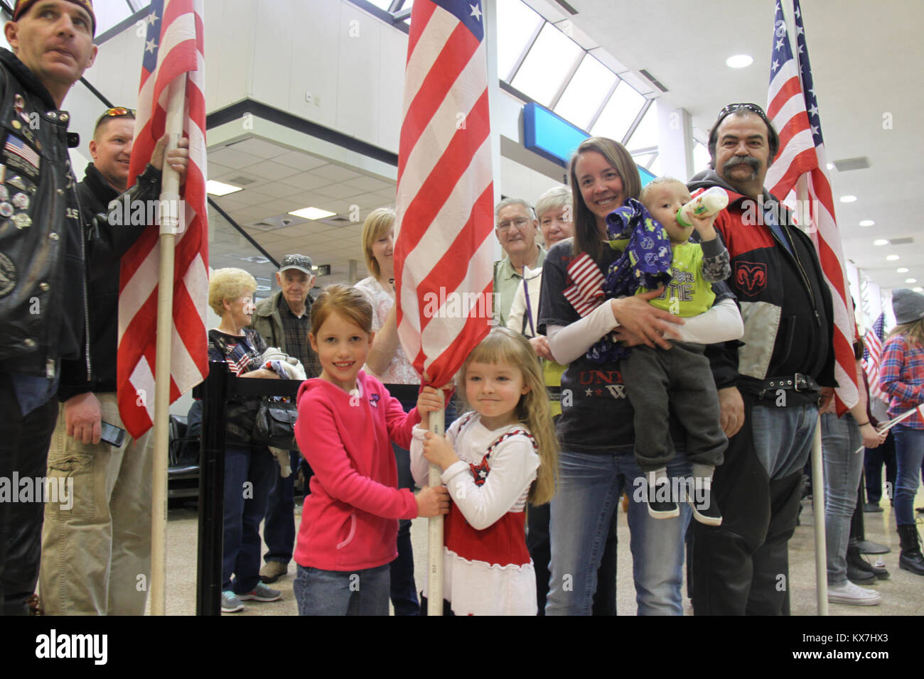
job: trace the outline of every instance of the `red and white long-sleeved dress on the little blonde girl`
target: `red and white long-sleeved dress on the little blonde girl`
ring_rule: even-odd
[[[428,482],[424,433],[414,427],[411,471]],[[468,413],[446,431],[459,457],[443,472],[453,498],[444,525],[443,596],[456,615],[535,615],[536,572],[526,547],[526,503],[539,454],[522,423],[498,430]],[[426,591],[424,582],[424,591]]]

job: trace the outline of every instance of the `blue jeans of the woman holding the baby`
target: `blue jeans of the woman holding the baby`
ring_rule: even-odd
[[[610,521],[627,485],[628,525],[639,615],[682,615],[684,539],[691,511],[655,519],[635,492],[644,474],[632,453],[559,455],[558,488],[552,500],[552,577],[546,615],[590,615]],[[670,477],[688,478],[684,455],[667,464]]]

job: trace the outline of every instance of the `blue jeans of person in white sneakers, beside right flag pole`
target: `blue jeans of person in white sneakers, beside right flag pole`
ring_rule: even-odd
[[[857,420],[845,413],[821,416],[821,451],[824,456],[824,535],[827,543],[828,584],[847,581],[847,540],[850,518],[857,506],[857,488],[863,471],[863,445]]]

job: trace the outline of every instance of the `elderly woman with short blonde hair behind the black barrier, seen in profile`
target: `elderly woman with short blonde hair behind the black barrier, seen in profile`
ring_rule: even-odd
[[[257,281],[242,269],[218,269],[209,280],[209,306],[221,317],[209,331],[209,360],[227,363],[237,377],[278,378],[261,368],[266,343],[248,328]],[[253,441],[260,398],[237,398],[225,410],[225,516],[222,612],[244,610],[241,601],[282,597],[260,581],[260,522],[273,481],[275,460]],[[232,581],[232,575],[235,576]]]

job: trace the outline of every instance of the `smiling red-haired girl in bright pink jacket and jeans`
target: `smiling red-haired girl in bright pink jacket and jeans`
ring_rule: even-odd
[[[448,493],[396,487],[391,442],[409,447],[420,417],[359,370],[373,337],[368,299],[328,285],[310,321],[322,372],[298,391],[298,448],[314,470],[295,551],[298,613],[387,615],[397,519],[446,514]]]

